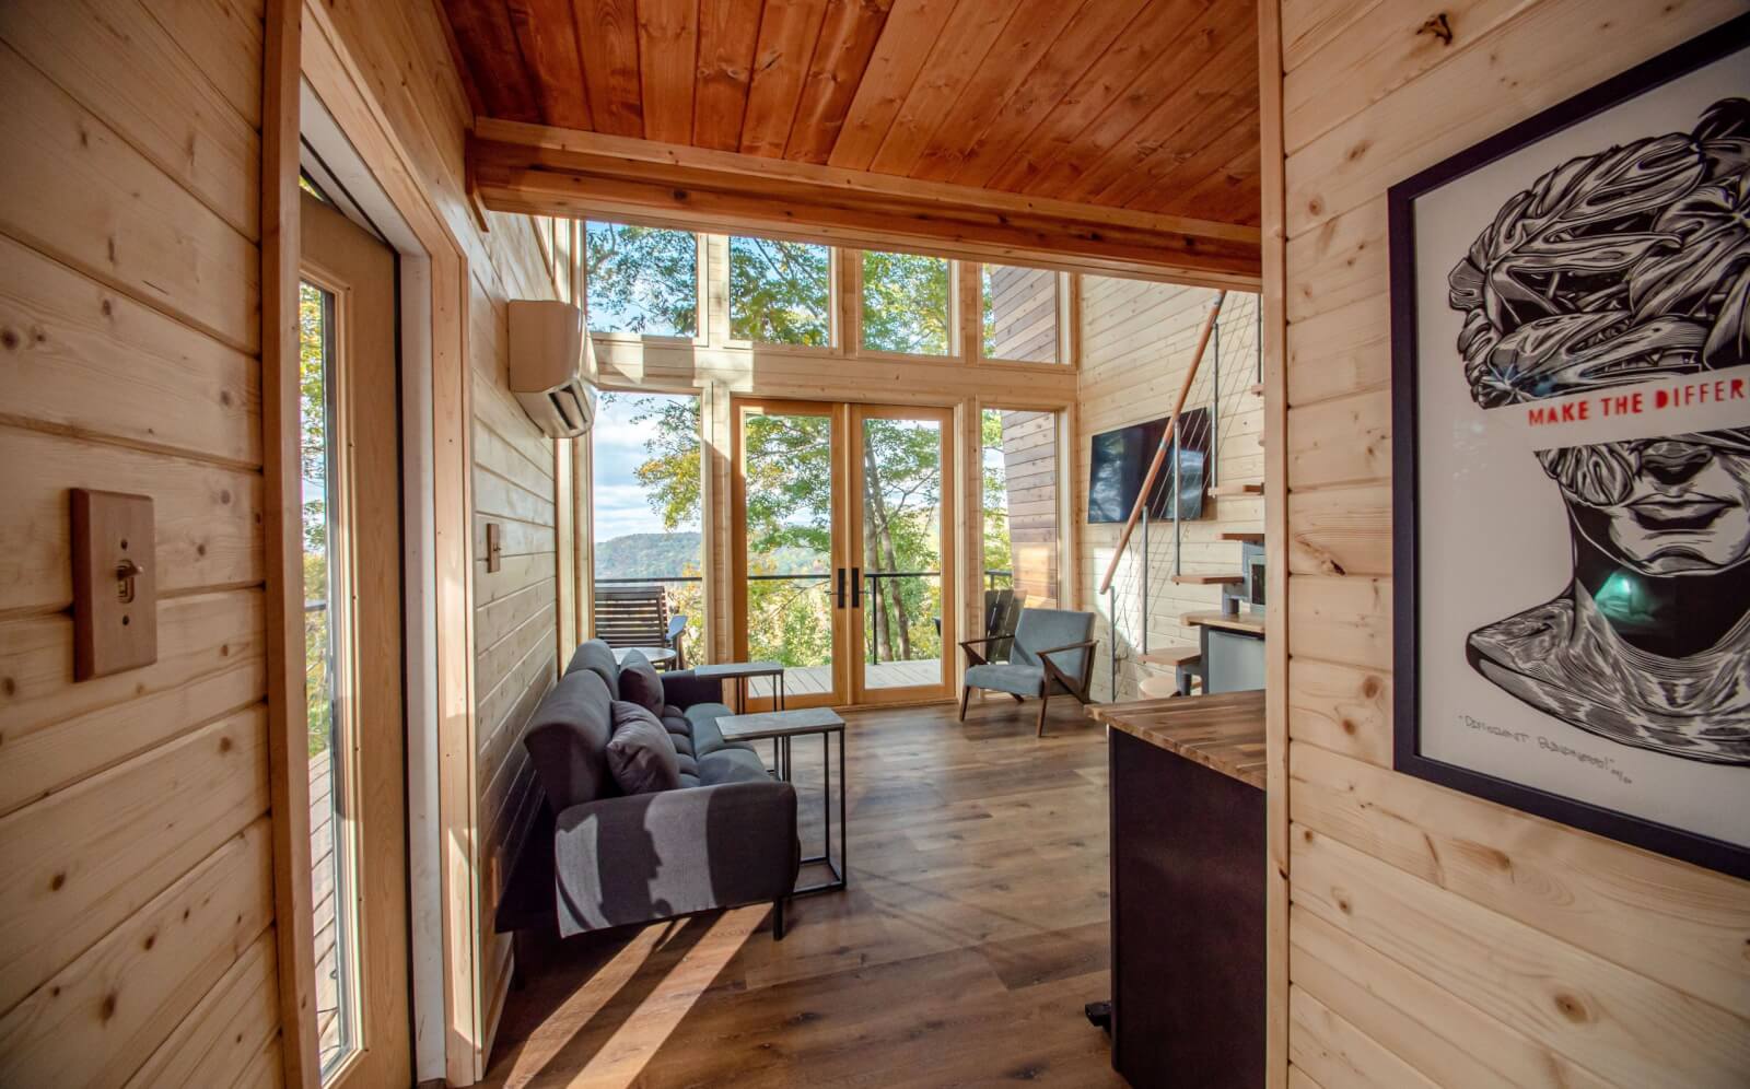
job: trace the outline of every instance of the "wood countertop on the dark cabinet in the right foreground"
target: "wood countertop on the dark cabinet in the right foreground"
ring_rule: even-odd
[[[1264,790],[1264,692],[1088,704],[1088,718]]]

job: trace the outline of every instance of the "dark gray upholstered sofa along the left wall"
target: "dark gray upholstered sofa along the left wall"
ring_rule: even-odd
[[[784,937],[796,884],[796,791],[754,749],[726,744],[721,683],[662,674],[660,720],[681,788],[623,795],[607,765],[620,667],[606,643],[578,648],[523,734],[546,821],[530,832],[497,910],[497,930],[556,924],[560,937],[770,902]]]

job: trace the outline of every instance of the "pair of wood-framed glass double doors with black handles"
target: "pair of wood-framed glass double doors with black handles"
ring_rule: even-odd
[[[952,410],[737,399],[735,657],[784,706],[950,695]],[[772,685],[751,681],[752,707]]]

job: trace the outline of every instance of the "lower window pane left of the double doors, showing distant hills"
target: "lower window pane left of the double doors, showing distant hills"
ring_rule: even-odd
[[[590,431],[595,511],[595,627],[658,592],[686,616],[681,651],[704,662],[698,397],[602,392]],[[618,639],[614,639],[618,643]],[[639,643],[646,644],[646,643]]]

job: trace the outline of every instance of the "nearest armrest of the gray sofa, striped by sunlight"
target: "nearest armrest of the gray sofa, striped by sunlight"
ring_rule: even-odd
[[[558,814],[553,893],[562,937],[761,903],[796,884],[796,790],[723,783],[598,798]]]

